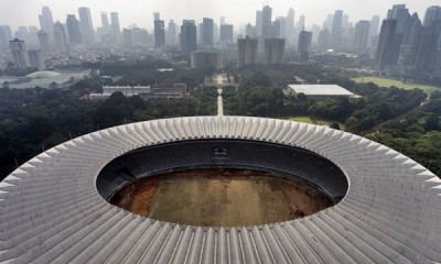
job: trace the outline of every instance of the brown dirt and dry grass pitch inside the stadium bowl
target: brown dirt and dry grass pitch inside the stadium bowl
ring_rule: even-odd
[[[161,174],[126,186],[110,202],[143,217],[202,227],[287,221],[333,205],[303,180],[245,169]]]

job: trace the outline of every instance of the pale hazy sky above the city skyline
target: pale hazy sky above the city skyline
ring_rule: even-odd
[[[293,8],[295,21],[304,14],[308,28],[313,23],[322,25],[326,15],[336,9],[347,13],[349,21],[357,22],[370,20],[374,14],[383,19],[387,10],[397,3],[406,3],[409,11],[418,12],[421,20],[428,7],[441,6],[440,0],[0,0],[0,24],[10,24],[13,29],[19,25],[39,26],[37,15],[43,6],[52,10],[55,21],[63,23],[67,13],[78,18],[78,7],[88,7],[94,28],[101,26],[101,11],[118,12],[121,28],[136,23],[150,30],[153,28],[154,11],[159,11],[161,19],[166,22],[173,19],[178,24],[183,19],[194,19],[200,23],[204,16],[219,23],[220,15],[226,18],[227,23],[235,25],[248,22],[255,24],[256,10],[261,10],[266,2],[272,8],[272,18],[284,16],[289,8]]]

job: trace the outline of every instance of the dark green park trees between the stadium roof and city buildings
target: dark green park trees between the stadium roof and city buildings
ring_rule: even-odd
[[[0,89],[0,178],[42,151],[96,130],[160,118],[216,114],[217,87],[203,85],[204,76],[211,73],[159,73],[158,67],[170,65],[108,65],[100,70],[101,75],[123,76],[119,85],[185,82],[189,96],[144,101],[115,92],[103,101],[79,99],[99,91],[103,80],[98,77],[80,80],[69,89]],[[388,145],[441,175],[440,91],[428,97],[421,89],[356,84],[340,69],[316,65],[254,65],[232,75],[240,76],[240,84],[224,88],[225,114],[330,120],[332,128]],[[312,100],[287,92],[287,85],[299,79],[337,84],[362,97]]]

